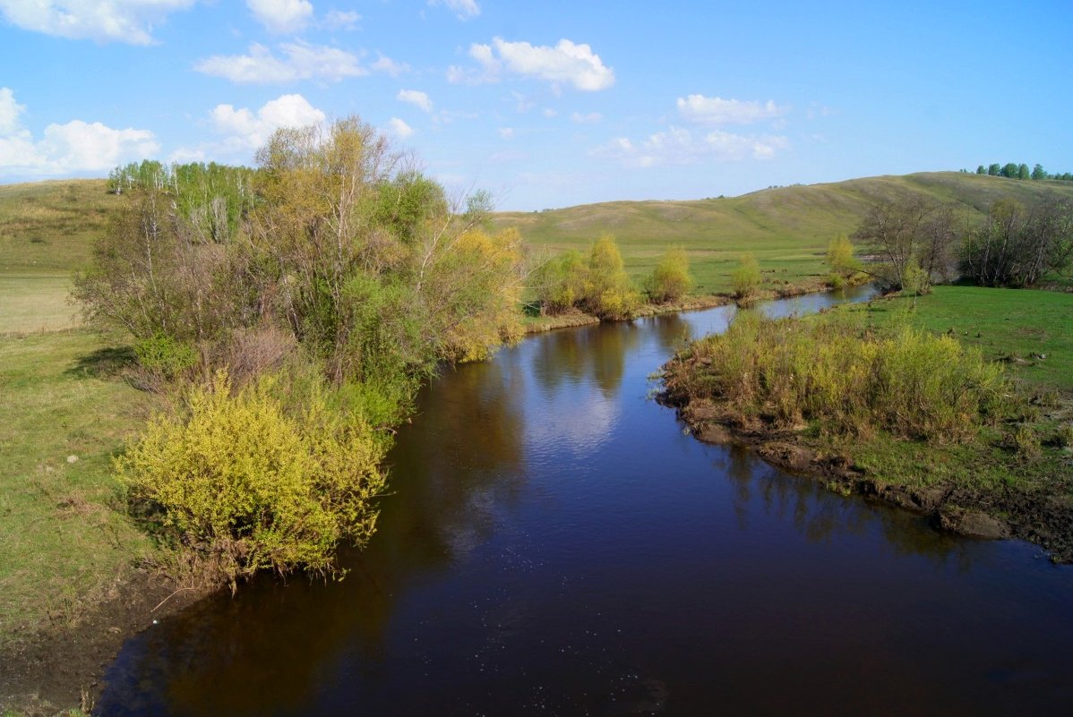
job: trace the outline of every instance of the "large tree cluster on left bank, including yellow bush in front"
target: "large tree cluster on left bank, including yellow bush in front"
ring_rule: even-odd
[[[486,195],[450,201],[357,118],[279,130],[256,161],[114,173],[126,208],[74,289],[133,335],[146,372],[186,385],[123,475],[173,544],[233,585],[262,567],[329,572],[336,540],[368,535],[391,428],[440,361],[520,335],[524,279]],[[205,230],[221,197],[226,230]],[[238,467],[229,445],[248,450]]]

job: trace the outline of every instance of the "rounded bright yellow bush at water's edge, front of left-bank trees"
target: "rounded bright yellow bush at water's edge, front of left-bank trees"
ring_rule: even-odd
[[[274,395],[278,380],[233,392],[219,372],[116,461],[132,507],[232,589],[261,569],[334,574],[337,543],[372,533],[371,502],[384,487],[382,435],[329,406],[319,386],[299,402],[302,415],[289,415]]]

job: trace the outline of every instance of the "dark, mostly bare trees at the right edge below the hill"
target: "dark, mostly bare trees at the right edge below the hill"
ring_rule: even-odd
[[[1073,263],[1073,203],[1049,197],[1026,208],[999,199],[972,224],[939,203],[888,199],[869,208],[853,239],[870,260],[855,258],[848,238],[833,240],[835,279],[859,271],[884,289],[913,294],[958,274],[982,286],[1032,286]]]

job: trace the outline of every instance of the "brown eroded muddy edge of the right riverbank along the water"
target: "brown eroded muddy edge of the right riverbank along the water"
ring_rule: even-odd
[[[709,400],[668,394],[661,403],[676,408],[692,434],[705,443],[747,446],[788,473],[820,481],[833,491],[928,516],[937,529],[974,538],[1018,538],[1044,548],[1056,563],[1073,563],[1073,505],[1061,495],[1013,488],[927,488],[879,480],[844,455],[825,454],[799,433],[763,421],[743,423],[726,406]]]

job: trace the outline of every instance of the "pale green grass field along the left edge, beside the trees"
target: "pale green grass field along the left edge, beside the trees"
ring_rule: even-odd
[[[149,549],[109,469],[149,399],[68,301],[117,201],[102,180],[0,186],[0,644],[77,621]]]

